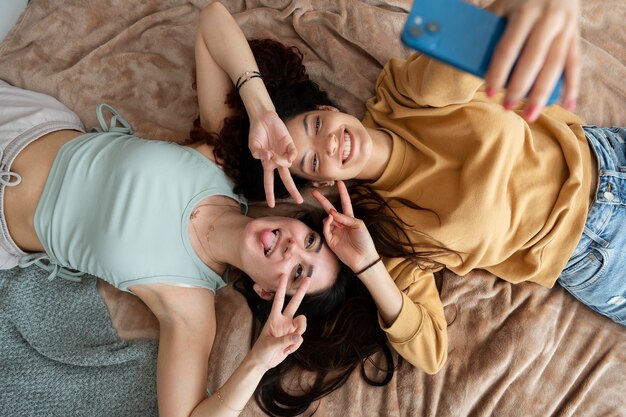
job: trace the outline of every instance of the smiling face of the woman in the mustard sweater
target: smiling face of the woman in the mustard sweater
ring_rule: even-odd
[[[362,179],[372,138],[356,117],[324,106],[285,124],[298,150],[293,174],[312,181]]]

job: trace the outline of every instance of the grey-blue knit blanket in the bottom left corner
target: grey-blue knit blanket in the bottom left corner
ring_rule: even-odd
[[[112,327],[96,278],[0,271],[0,416],[156,416],[157,343]]]

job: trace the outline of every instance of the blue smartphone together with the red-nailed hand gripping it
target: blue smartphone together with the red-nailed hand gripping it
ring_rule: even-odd
[[[555,64],[553,60],[550,61],[550,54],[545,56],[546,49],[552,51],[553,48],[550,47],[558,44],[557,40],[542,32],[545,25],[541,26],[540,21],[530,22],[527,16],[525,19],[518,19],[518,13],[521,13],[520,7],[528,7],[529,4],[537,10],[543,10],[551,1],[500,1],[499,3],[508,6],[508,9],[503,10],[510,17],[507,21],[460,0],[416,0],[402,32],[402,40],[408,46],[461,70],[483,78],[487,75],[487,85],[492,87],[490,92],[497,91],[496,89],[506,83],[506,108],[513,108],[528,93],[529,100],[524,115],[529,121],[533,121],[546,101],[552,104],[558,99],[563,85],[563,63]],[[519,23],[520,20],[522,24]],[[561,20],[567,22],[566,19]],[[526,45],[526,42],[531,41],[533,43],[530,46]],[[510,53],[511,51],[515,53]],[[492,60],[494,56],[496,60]],[[570,63],[565,68],[570,71],[564,99],[566,107],[571,108],[577,95],[577,83],[572,82],[577,78],[571,77],[571,73],[577,75],[577,68]],[[554,87],[547,90],[546,86]],[[550,91],[552,94],[545,97]]]

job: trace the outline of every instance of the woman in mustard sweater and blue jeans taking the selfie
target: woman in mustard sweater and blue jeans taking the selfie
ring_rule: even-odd
[[[308,79],[297,51],[251,42],[258,67],[249,52],[233,55],[263,75],[247,81],[255,83],[253,97],[242,95],[239,102],[228,95],[230,87],[219,91],[215,101],[228,97],[230,108],[212,125],[203,124],[219,134],[194,136],[220,143],[216,152],[232,162],[225,170],[241,192],[270,206],[275,192],[301,201],[299,184],[360,181],[350,190],[351,206],[376,251],[331,247],[344,261],[358,253],[367,267],[358,276],[391,346],[429,373],[447,356],[433,276],[443,267],[459,275],[482,268],[512,283],[559,283],[592,309],[626,323],[620,302],[626,294],[620,232],[626,131],[583,126],[569,111],[580,77],[579,2],[509,0],[490,7],[509,24],[484,82],[419,54],[392,59],[360,121],[339,111]],[[245,41],[225,10],[220,19],[225,37]],[[293,67],[272,66],[273,60],[295,62],[294,56],[299,62]],[[219,65],[211,78],[232,77],[217,53],[213,58]],[[564,107],[543,109],[562,72]],[[499,92],[507,79],[506,91]],[[259,108],[263,118],[250,114]],[[245,155],[246,146],[263,169]],[[275,181],[277,167],[284,187]],[[328,242],[328,233],[356,225],[316,197],[330,216]],[[347,207],[345,195],[343,200]]]

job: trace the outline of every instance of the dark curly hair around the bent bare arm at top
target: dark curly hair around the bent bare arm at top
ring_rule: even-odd
[[[298,48],[287,47],[270,39],[251,40],[250,48],[263,74],[263,82],[276,107],[276,113],[283,121],[313,111],[321,105],[335,106],[326,92],[309,79]],[[228,94],[225,104],[230,107],[232,115],[224,120],[222,130],[219,133],[207,132],[200,125],[200,118],[197,118],[190,132],[190,141],[213,146],[216,160],[235,182],[235,192],[251,201],[263,201],[265,191],[263,181],[259,180],[263,178],[263,168],[248,149],[250,120],[236,90]],[[308,182],[297,176],[292,178],[298,188]],[[274,195],[278,199],[289,197],[276,170]]]

